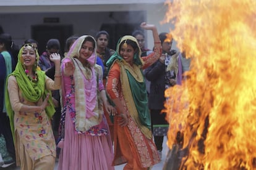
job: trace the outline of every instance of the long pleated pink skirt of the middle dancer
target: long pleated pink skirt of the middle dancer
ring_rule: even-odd
[[[107,124],[104,115],[103,121]],[[75,134],[74,124],[72,124],[69,113],[66,113],[65,139],[64,147],[59,155],[59,170],[111,170],[114,169],[112,166],[113,157],[109,128],[108,136]]]

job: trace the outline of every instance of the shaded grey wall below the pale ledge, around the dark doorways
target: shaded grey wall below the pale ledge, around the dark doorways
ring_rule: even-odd
[[[32,37],[32,25],[73,25],[74,34],[94,35],[103,23],[140,23],[144,20],[144,14],[145,12],[115,12],[112,18],[109,17],[109,12],[1,14],[0,23],[4,32],[11,34],[19,44]],[[59,22],[44,23],[46,17],[59,18]]]

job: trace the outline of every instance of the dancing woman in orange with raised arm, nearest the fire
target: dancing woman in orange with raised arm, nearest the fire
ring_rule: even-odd
[[[137,40],[124,36],[117,42],[116,53],[108,60],[106,89],[117,108],[114,116],[114,161],[124,169],[149,169],[160,162],[152,139],[148,97],[142,69],[161,56],[161,44],[155,25],[142,23],[145,30],[153,31],[154,52],[141,57]]]

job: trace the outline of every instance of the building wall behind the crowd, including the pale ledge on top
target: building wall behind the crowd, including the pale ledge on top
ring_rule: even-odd
[[[14,1],[16,0],[8,0],[9,5]],[[41,1],[33,2],[40,3]],[[166,6],[164,6],[163,2],[156,3],[152,1],[151,4],[120,3],[72,6],[48,6],[46,3],[44,6],[33,6],[33,4],[30,6],[26,6],[26,4],[23,4],[23,6],[0,6],[0,25],[6,33],[12,35],[16,44],[22,44],[25,39],[32,37],[32,25],[73,25],[74,34],[78,35],[94,35],[100,30],[103,23],[141,23],[145,21],[155,24],[159,33],[168,32],[170,28],[173,28],[173,25],[169,23],[160,24],[166,13]],[[44,23],[43,19],[45,17],[59,18],[59,23]],[[147,46],[151,49],[153,48],[151,31],[146,31],[145,33]]]

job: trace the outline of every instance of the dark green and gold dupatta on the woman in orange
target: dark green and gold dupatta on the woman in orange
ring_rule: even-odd
[[[126,39],[134,41],[139,49],[139,51],[134,54],[133,67],[122,59],[119,54],[119,46],[121,42],[126,41]],[[143,65],[143,60],[140,58],[140,54],[141,51],[137,40],[133,36],[124,36],[117,42],[116,52],[111,56],[106,65],[110,70],[114,62],[119,64],[121,70],[121,88],[124,92],[128,111],[142,133],[147,136],[148,139],[151,139],[151,119],[148,110],[145,79],[140,68]]]

